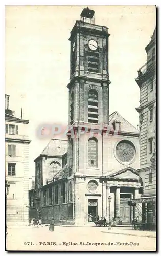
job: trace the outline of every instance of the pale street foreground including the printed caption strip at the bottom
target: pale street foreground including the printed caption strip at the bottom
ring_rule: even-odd
[[[106,233],[106,227],[8,228],[7,250],[155,251],[156,238]]]

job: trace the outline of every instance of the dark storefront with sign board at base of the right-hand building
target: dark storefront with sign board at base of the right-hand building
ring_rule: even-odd
[[[145,230],[156,228],[156,196],[132,199],[132,204],[142,204],[142,223]]]

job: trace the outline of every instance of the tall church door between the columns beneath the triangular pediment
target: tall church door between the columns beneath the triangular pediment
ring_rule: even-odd
[[[120,200],[120,218],[122,222],[131,222],[131,206],[128,205],[128,201]]]

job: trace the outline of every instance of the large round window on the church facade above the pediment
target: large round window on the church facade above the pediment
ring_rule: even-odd
[[[135,157],[135,152],[135,146],[128,140],[122,140],[116,146],[116,156],[124,163],[132,161]]]

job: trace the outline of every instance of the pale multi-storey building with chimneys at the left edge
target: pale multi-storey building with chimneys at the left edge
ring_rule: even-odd
[[[9,95],[5,95],[5,174],[9,194],[6,202],[7,225],[28,223],[29,210],[29,144],[28,120],[17,118],[10,110]]]

